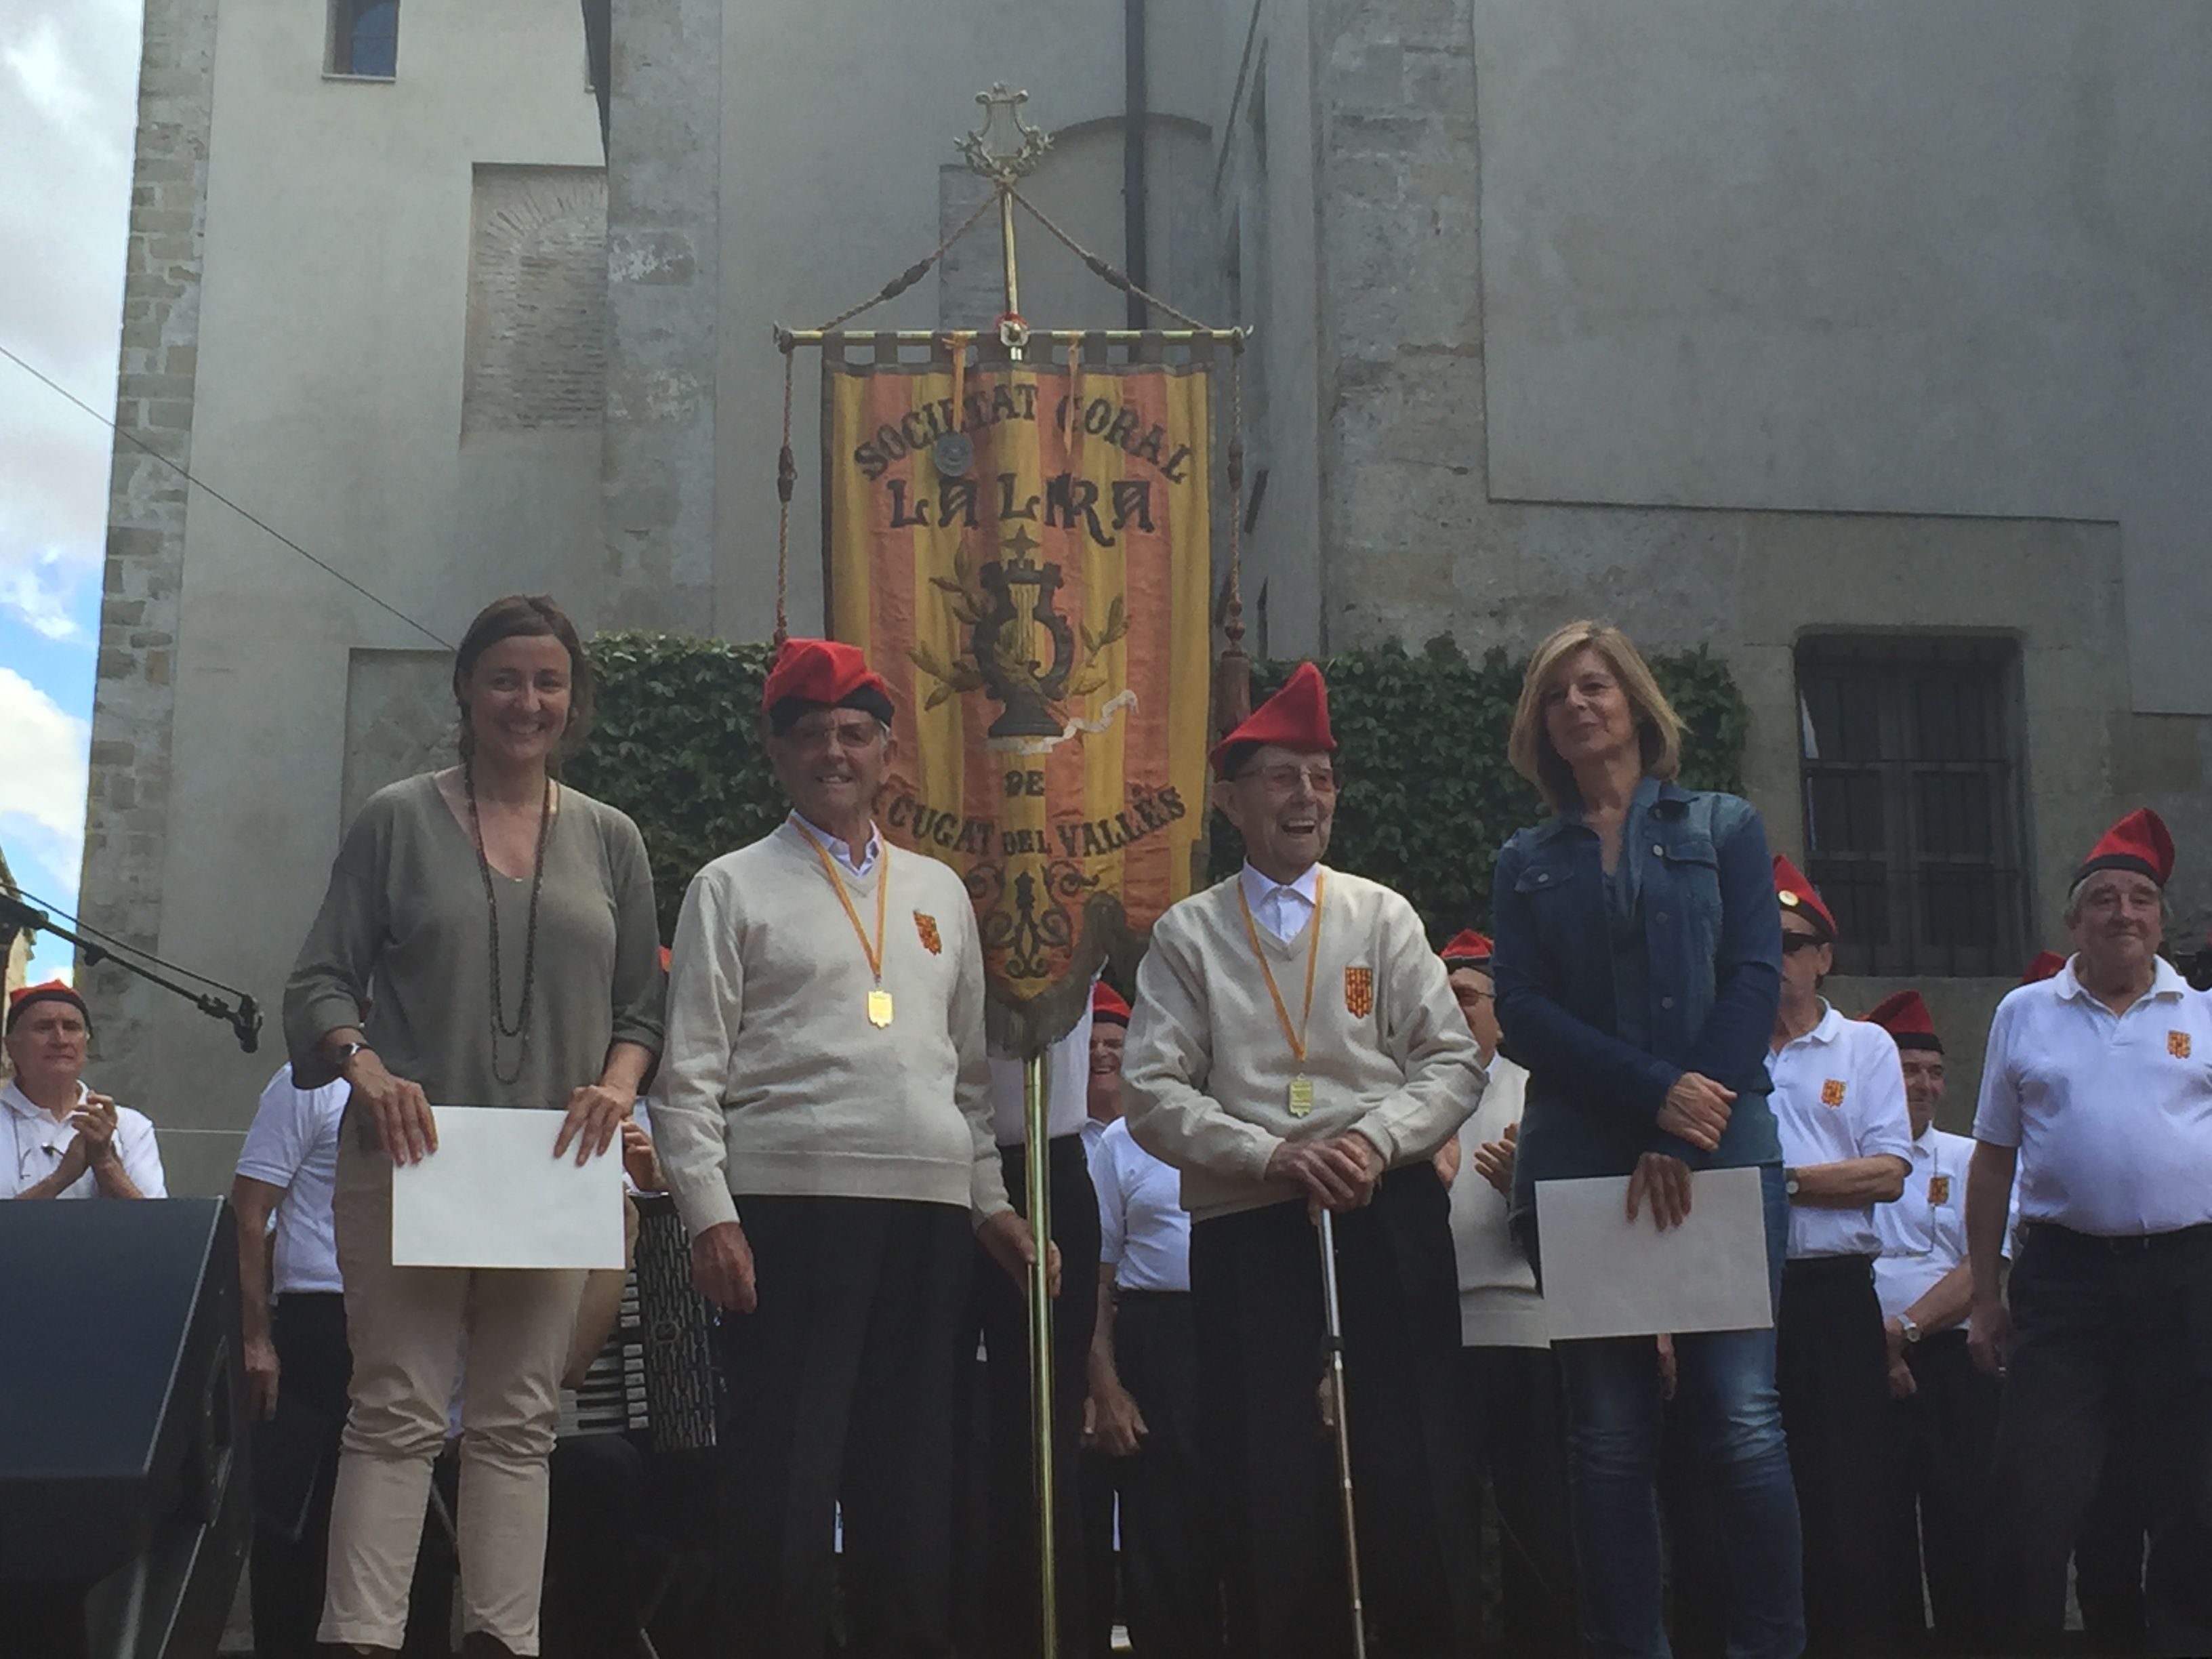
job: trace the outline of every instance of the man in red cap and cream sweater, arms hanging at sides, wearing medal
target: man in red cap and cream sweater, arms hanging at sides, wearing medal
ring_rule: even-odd
[[[991,1139],[960,878],[876,834],[891,697],[792,639],[763,695],[792,814],[684,896],[653,1097],[717,1303],[723,1648],[821,1655],[845,1526],[856,1652],[951,1650],[953,1383],[975,1239],[1033,1259]]]

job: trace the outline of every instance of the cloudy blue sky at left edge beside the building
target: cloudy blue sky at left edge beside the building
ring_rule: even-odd
[[[115,407],[142,0],[0,0],[0,345]],[[108,431],[0,358],[0,849],[75,907]],[[51,940],[33,960],[66,971]]]

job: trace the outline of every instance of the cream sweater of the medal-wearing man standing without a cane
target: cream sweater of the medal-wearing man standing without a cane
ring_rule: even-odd
[[[838,874],[869,936],[876,883],[891,883],[883,1029],[803,830],[723,854],[684,894],[653,1128],[692,1237],[737,1219],[734,1192],[958,1203],[978,1221],[1006,1208],[967,887],[889,843],[865,878]]]

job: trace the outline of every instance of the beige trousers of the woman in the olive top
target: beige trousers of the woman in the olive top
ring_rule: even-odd
[[[431,1462],[465,1363],[462,1630],[535,1655],[546,1455],[584,1274],[394,1267],[392,1159],[361,1146],[352,1113],[338,1133],[334,1221],[354,1380],[316,1639],[392,1650],[405,1639]]]

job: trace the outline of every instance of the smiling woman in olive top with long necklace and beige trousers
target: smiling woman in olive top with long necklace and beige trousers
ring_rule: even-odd
[[[436,1152],[429,1102],[560,1113],[549,1157],[604,1155],[661,1046],[659,929],[637,825],[555,779],[591,712],[591,659],[560,606],[487,606],[453,695],[460,765],[369,799],[285,987],[294,1082],[354,1091],[334,1206],[352,1411],[319,1639],[400,1648],[465,1354],[465,1652],[535,1655],[546,1453],[584,1274],[394,1267],[392,1166]]]

